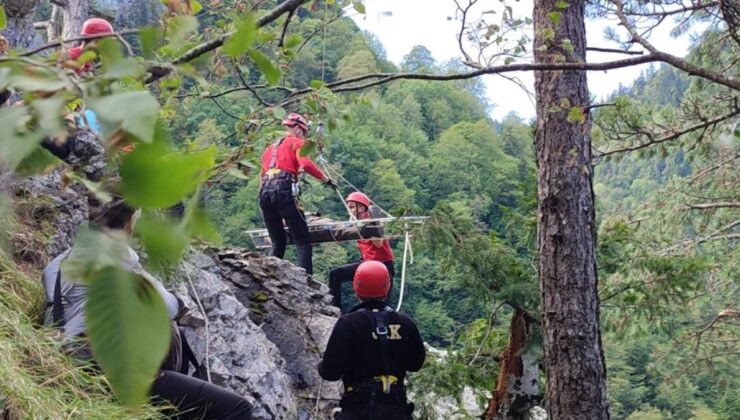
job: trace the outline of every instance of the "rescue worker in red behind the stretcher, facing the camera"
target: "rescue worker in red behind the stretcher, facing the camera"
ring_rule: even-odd
[[[370,199],[361,192],[353,192],[347,196],[347,207],[357,220],[372,219],[370,212]],[[382,236],[382,231],[379,231]],[[370,238],[357,241],[357,248],[362,255],[362,261],[341,265],[329,271],[329,290],[334,297],[334,305],[342,307],[342,283],[352,281],[357,267],[363,261],[380,261],[388,269],[391,288],[393,290],[393,250],[388,239]],[[390,293],[389,293],[390,297]]]

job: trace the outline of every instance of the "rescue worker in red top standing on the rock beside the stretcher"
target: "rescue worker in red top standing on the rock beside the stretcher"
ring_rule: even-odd
[[[311,158],[299,155],[308,133],[308,121],[300,114],[291,113],[283,120],[283,125],[288,129],[285,136],[268,146],[262,154],[259,204],[272,242],[270,255],[278,258],[285,255],[285,220],[296,244],[298,266],[312,274],[308,225],[298,208],[298,171],[303,169],[332,188],[336,188],[336,184],[316,167]]]

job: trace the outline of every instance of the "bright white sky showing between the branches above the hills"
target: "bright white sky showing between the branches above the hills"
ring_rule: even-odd
[[[480,7],[476,5],[472,10],[481,12],[495,9],[498,13],[493,15],[489,23],[500,23],[503,4],[490,0],[480,3],[482,4]],[[461,59],[462,54],[456,35],[460,30],[460,22],[448,20],[449,16],[454,16],[456,10],[453,0],[365,0],[364,4],[366,14],[364,16],[354,14],[352,18],[360,28],[377,35],[385,47],[388,59],[392,62],[399,64],[403,56],[418,44],[427,47],[438,63],[449,59]],[[460,4],[466,4],[465,0],[460,0]],[[513,7],[515,17],[532,15],[531,0],[507,0],[505,4]],[[478,14],[471,12],[470,16],[477,17]],[[590,47],[619,48],[617,44],[605,39],[604,29],[607,26],[618,29],[614,21],[600,20],[586,23]],[[672,38],[669,35],[672,27],[673,22],[667,19],[667,22],[653,32],[650,40],[653,45],[665,52],[684,56],[690,44],[689,35]],[[623,54],[589,52],[587,60],[603,62],[626,57],[628,56]],[[620,83],[628,85],[649,66],[645,64],[608,72],[589,72],[588,84],[591,95],[598,101],[616,90]],[[534,77],[531,72],[509,75],[517,76],[530,92],[534,92]],[[521,87],[496,75],[484,76],[484,82],[488,97],[495,104],[491,113],[494,119],[501,120],[510,112],[516,112],[525,119],[534,117],[534,98],[530,98]]]

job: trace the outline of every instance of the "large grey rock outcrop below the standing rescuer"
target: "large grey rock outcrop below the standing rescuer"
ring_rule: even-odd
[[[339,312],[325,285],[238,249],[192,253],[178,278],[185,335],[214,383],[248,398],[258,419],[329,417],[340,385],[322,383],[316,367]]]

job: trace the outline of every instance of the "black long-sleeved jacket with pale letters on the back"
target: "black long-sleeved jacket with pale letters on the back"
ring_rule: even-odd
[[[374,322],[361,309],[383,310],[385,306],[381,301],[366,301],[339,318],[326,345],[324,359],[319,363],[322,378],[327,381],[342,379],[347,387],[374,376],[390,374],[403,383],[406,372],[421,369],[426,351],[419,330],[411,318],[394,311],[388,318],[390,372],[383,372],[381,344],[373,338]]]

